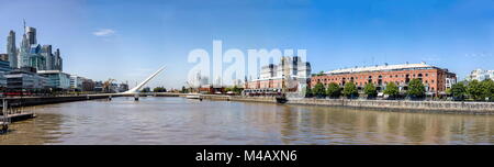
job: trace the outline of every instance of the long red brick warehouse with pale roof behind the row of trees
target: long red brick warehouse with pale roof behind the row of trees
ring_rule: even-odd
[[[314,88],[318,82],[326,87],[330,82],[343,87],[346,82],[351,81],[359,90],[362,90],[366,84],[372,82],[382,92],[389,82],[394,82],[402,91],[407,90],[409,80],[415,78],[422,80],[426,92],[433,96],[446,93],[446,89],[457,82],[457,75],[449,73],[448,69],[422,63],[330,70],[321,76],[313,76],[311,87]]]

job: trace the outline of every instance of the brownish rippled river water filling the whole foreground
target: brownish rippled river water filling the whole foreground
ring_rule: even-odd
[[[494,144],[493,115],[367,111],[184,98],[26,108],[0,144]]]

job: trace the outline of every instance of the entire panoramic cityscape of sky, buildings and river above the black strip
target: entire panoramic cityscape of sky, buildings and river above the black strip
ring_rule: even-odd
[[[30,2],[0,9],[0,145],[494,144],[492,1]]]

